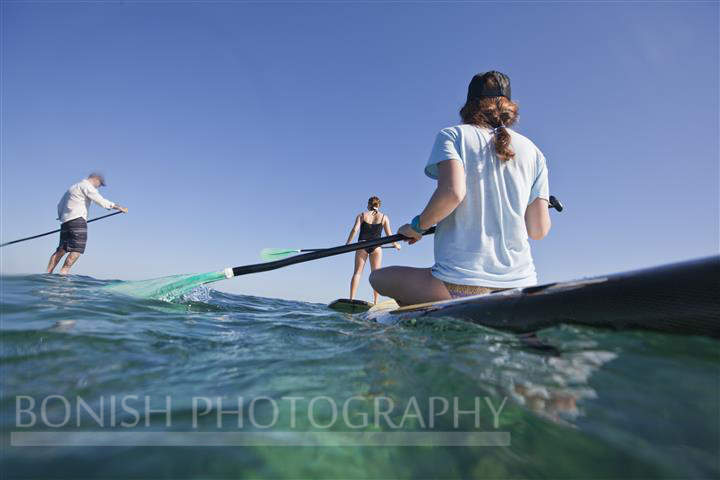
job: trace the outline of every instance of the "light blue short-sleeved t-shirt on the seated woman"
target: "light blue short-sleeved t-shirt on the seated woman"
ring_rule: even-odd
[[[435,139],[425,174],[437,179],[437,164],[457,160],[465,168],[467,193],[435,231],[436,278],[493,288],[537,284],[525,210],[548,199],[545,157],[526,137],[508,129],[515,158],[495,154],[491,130],[474,125],[444,128]]]

